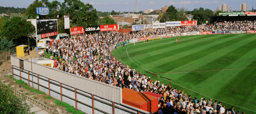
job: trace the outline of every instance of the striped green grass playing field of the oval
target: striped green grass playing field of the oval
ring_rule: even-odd
[[[226,109],[234,106],[236,112],[256,114],[256,34],[182,36],[179,44],[173,42],[176,38],[129,44],[112,54],[136,71],[172,79],[173,88],[184,89],[192,98],[212,98]],[[230,68],[239,69],[220,70]],[[216,71],[186,72],[199,70]],[[158,80],[169,85],[166,79]]]

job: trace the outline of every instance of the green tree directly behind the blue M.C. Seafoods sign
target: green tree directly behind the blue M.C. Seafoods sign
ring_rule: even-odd
[[[36,16],[39,16],[39,14],[36,14],[36,7],[44,7],[44,5],[38,0],[30,4],[26,10],[26,15],[29,16],[30,19],[36,19]]]

